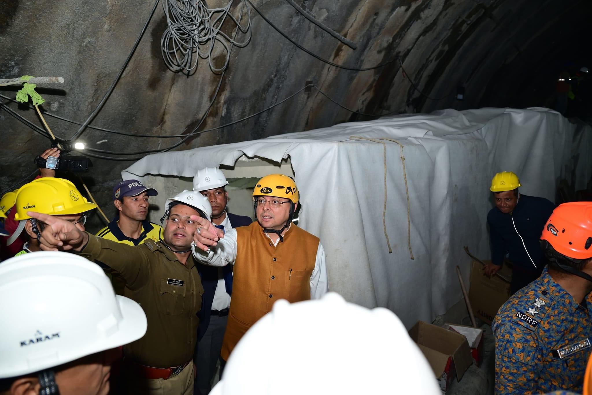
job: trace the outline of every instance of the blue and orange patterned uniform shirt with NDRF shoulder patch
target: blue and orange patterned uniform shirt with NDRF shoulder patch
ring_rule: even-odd
[[[546,268],[504,303],[493,321],[496,394],[581,392],[591,307],[592,293],[578,304]]]

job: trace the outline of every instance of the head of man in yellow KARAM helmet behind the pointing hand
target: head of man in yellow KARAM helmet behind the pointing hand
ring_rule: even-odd
[[[40,235],[45,224],[27,215],[27,211],[57,216],[76,224],[84,230],[86,211],[94,210],[96,204],[89,203],[67,179],[43,177],[37,178],[23,185],[16,197],[17,213],[14,219],[18,221],[17,230],[8,238],[8,245],[24,230],[28,235],[28,242],[17,255],[27,252],[41,251],[39,247]]]

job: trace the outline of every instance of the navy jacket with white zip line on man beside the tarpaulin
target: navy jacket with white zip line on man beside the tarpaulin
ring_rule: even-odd
[[[546,221],[555,209],[555,204],[545,198],[520,194],[518,204],[512,214],[505,214],[494,207],[487,214],[487,223],[490,227],[491,262],[501,265],[504,255],[508,253],[508,259],[523,269],[535,270],[526,254],[522,240],[517,235],[512,224],[512,217],[516,223],[516,229],[524,239],[528,253],[536,267],[542,269],[545,265],[545,256],[540,249],[540,235],[543,233]]]

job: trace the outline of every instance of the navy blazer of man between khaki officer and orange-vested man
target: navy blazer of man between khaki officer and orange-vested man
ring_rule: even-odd
[[[230,224],[233,228],[247,226],[253,222],[252,219],[246,216],[237,216],[230,213],[226,213],[226,215],[228,216]],[[212,303],[214,301],[214,293],[218,285],[218,268],[215,266],[197,264],[197,271],[200,272],[201,285],[204,287],[201,310],[197,314],[197,316],[200,318],[197,340],[200,341],[204,336],[205,330],[208,329],[208,325],[210,325],[210,313],[212,310]]]

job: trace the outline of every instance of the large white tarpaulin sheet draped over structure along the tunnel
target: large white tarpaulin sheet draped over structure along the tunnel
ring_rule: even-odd
[[[352,136],[403,144],[406,175],[397,143]],[[153,182],[166,176],[168,184],[161,186],[175,185],[170,176],[192,177],[205,166],[235,166],[239,158],[265,158],[279,165],[289,158],[303,204],[299,226],[320,237],[330,290],[363,306],[387,307],[409,327],[418,319],[431,321],[461,298],[455,265],[468,281],[463,246],[489,256],[486,224],[493,203],[488,188],[496,172],[516,172],[524,194],[554,201],[559,179],[576,190],[586,187],[591,151],[589,126],[571,124],[545,108],[443,110],[158,153],[122,175],[155,175]],[[414,259],[407,245],[405,178]],[[392,253],[382,223],[385,187]]]

